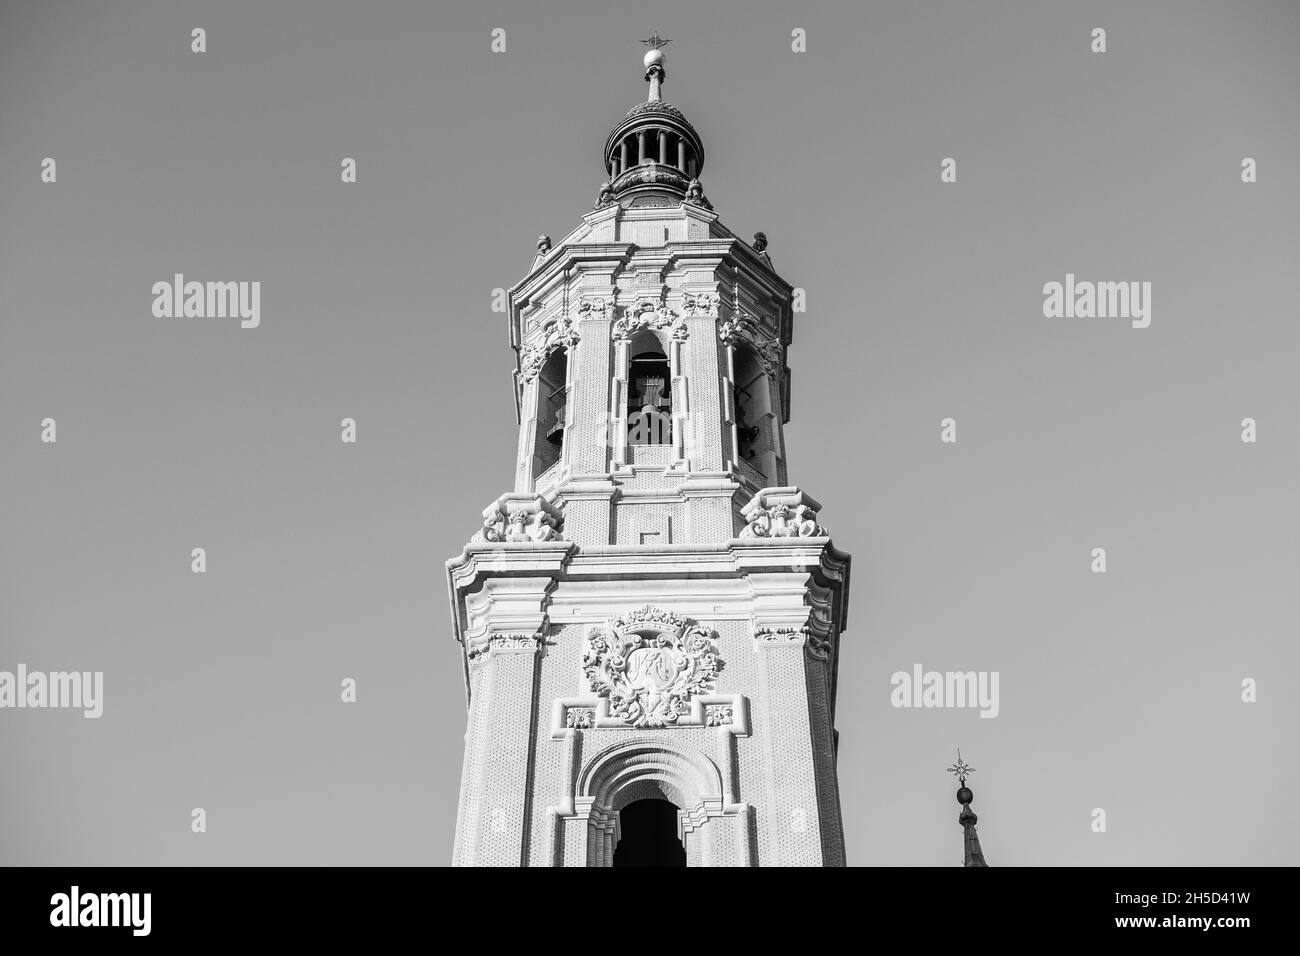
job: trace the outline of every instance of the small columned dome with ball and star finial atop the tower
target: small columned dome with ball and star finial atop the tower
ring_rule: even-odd
[[[642,43],[650,47],[644,60],[649,95],[610,131],[604,169],[623,206],[676,204],[705,168],[705,144],[685,114],[660,96],[668,40],[655,34]]]

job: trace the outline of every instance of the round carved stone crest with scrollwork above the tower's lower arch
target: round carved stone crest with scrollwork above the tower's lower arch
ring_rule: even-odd
[[[588,633],[582,671],[610,715],[633,727],[663,727],[710,693],[722,661],[714,633],[690,618],[646,605]]]

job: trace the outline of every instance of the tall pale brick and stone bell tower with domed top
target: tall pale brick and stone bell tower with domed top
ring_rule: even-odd
[[[510,290],[514,490],[447,562],[454,862],[840,866],[849,555],[786,476],[793,287],[645,43],[595,208]]]

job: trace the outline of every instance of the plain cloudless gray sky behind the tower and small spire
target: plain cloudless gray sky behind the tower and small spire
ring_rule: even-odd
[[[646,10],[0,7],[0,670],[107,697],[0,711],[0,862],[450,858],[443,561],[516,440],[491,290],[590,208],[658,30],[708,198],[807,290],[850,862],[959,862],[961,747],[994,866],[1292,864],[1300,8]],[[174,272],[261,281],[260,328],[153,317]],[[1152,282],[1150,328],[1045,319],[1067,272]],[[916,662],[998,671],[1000,715],[893,709]]]

